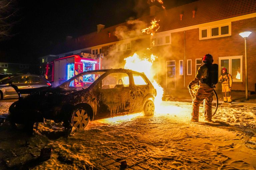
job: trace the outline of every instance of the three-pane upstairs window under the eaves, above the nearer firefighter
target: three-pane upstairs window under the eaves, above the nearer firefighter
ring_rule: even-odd
[[[199,40],[231,36],[231,23],[199,28]]]

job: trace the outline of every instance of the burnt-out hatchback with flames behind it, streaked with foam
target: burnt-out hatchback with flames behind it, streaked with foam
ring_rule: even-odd
[[[89,121],[143,111],[154,114],[156,90],[143,73],[127,69],[83,72],[58,87],[17,90],[31,93],[9,108],[11,123],[32,130],[44,119],[63,122],[71,133],[84,129]]]

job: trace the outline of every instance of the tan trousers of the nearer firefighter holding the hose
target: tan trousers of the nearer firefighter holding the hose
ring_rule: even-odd
[[[193,99],[193,111],[192,119],[198,120],[199,118],[199,106],[204,101],[204,119],[212,120],[212,101],[213,101],[213,88],[208,85],[199,86],[195,98]]]

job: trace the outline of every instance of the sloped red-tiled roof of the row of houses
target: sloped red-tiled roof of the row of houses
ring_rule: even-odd
[[[194,10],[196,12],[195,17],[193,18],[192,11]],[[171,8],[169,10],[161,11],[155,16],[144,16],[138,20],[148,23],[149,26],[150,21],[153,18],[156,18],[157,20],[160,20],[160,29],[158,32],[163,32],[255,12],[255,0],[199,0],[179,7]],[[182,20],[180,20],[180,14],[183,14]],[[68,40],[64,44],[60,44],[59,47],[55,48],[54,53],[64,53],[119,41],[114,35],[115,29],[119,26],[126,26],[129,28],[129,24],[125,22],[102,29],[99,33],[93,32],[86,34],[81,37]],[[109,33],[111,34],[110,37]]]

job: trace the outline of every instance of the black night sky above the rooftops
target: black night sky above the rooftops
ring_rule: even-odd
[[[1,1],[1,0],[0,0]],[[196,0],[165,0],[166,9]],[[11,37],[0,42],[0,62],[37,63],[66,36],[77,37],[149,14],[159,3],[147,0],[24,0],[14,2],[17,9]]]

